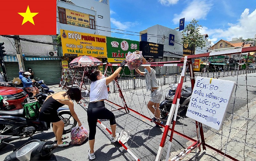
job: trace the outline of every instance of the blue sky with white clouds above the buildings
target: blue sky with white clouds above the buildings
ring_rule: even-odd
[[[254,38],[256,34],[256,0],[110,0],[112,37],[139,41],[138,33],[156,24],[179,27],[195,18],[213,43],[220,39]],[[132,31],[132,32],[127,32]]]

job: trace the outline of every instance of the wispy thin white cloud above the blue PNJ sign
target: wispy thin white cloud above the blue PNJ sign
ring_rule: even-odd
[[[180,14],[174,14],[172,21],[174,24],[179,24],[180,19],[184,17],[186,22],[190,22],[194,18],[196,20],[205,19],[211,7],[212,4],[209,1],[193,0]]]

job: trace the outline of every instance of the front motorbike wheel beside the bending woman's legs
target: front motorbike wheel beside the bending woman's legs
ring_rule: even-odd
[[[72,117],[69,111],[59,112],[60,119],[64,122],[63,134],[71,132],[73,127],[76,127],[77,121]]]

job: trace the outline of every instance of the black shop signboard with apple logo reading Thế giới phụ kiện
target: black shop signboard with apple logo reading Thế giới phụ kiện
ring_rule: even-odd
[[[140,42],[140,51],[145,58],[162,59],[164,56],[164,44],[158,44],[154,42]]]

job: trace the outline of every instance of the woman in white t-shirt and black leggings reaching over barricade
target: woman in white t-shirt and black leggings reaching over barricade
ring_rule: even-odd
[[[115,115],[106,109],[104,100],[108,99],[107,85],[113,81],[120,73],[126,61],[124,60],[116,71],[105,78],[105,76],[98,69],[92,69],[85,72],[86,76],[92,81],[90,90],[90,103],[87,109],[87,120],[89,124],[89,158],[95,159],[94,142],[96,134],[97,119],[109,119],[112,131],[111,142],[116,142],[119,134],[116,134],[116,119]]]

